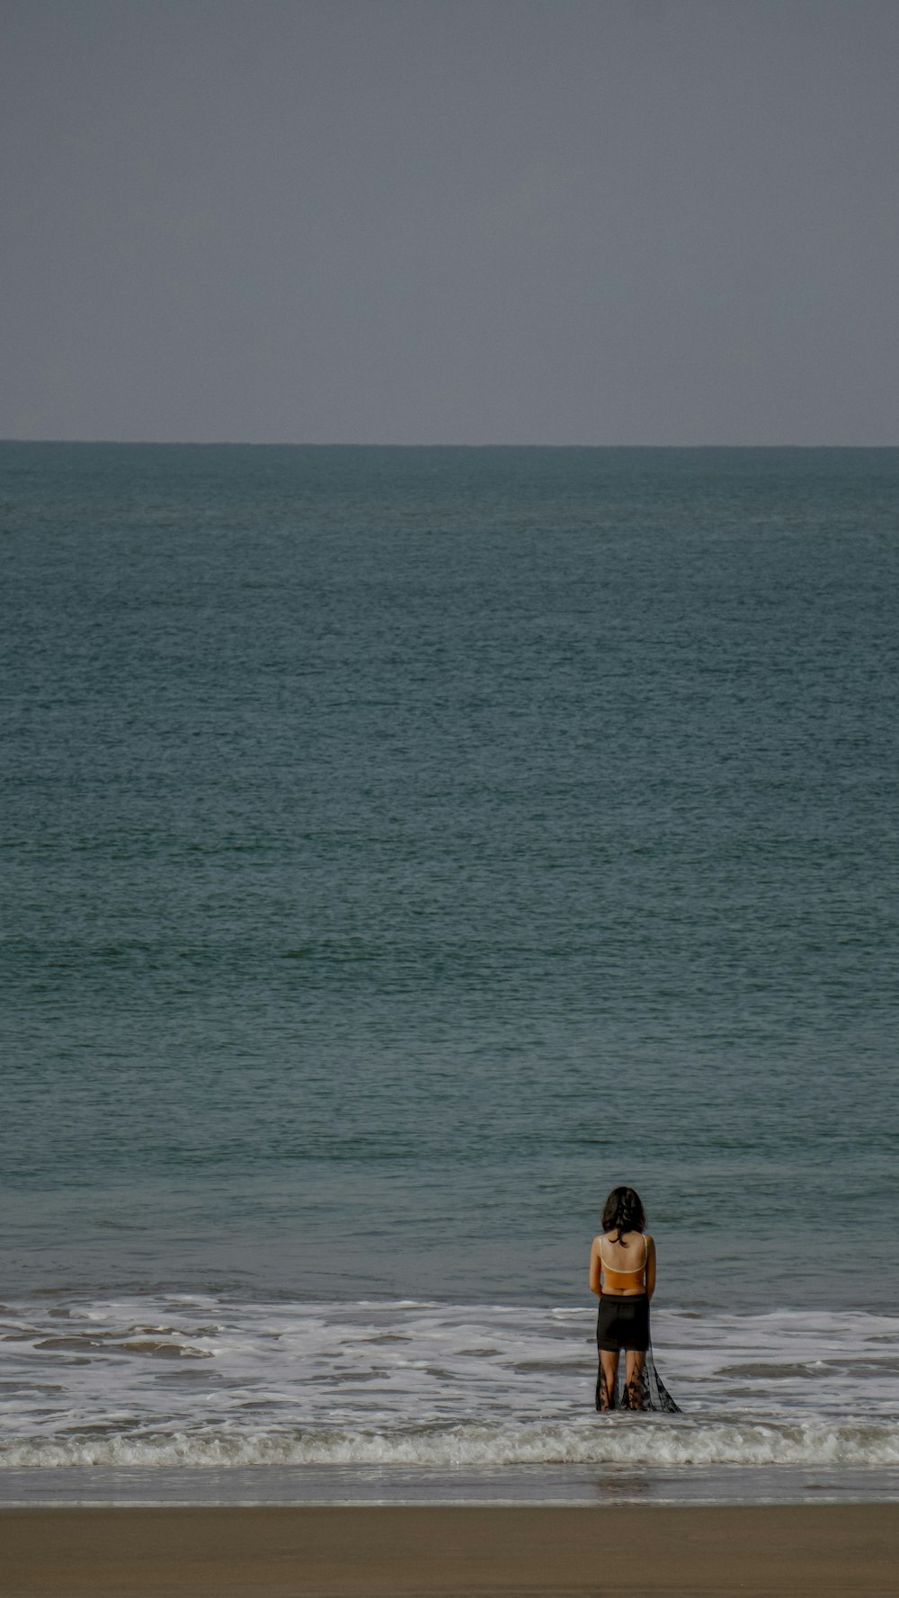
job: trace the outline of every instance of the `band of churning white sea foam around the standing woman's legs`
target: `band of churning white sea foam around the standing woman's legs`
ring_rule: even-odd
[[[0,1467],[899,1465],[899,1318],[659,1312],[682,1416],[592,1411],[580,1307],[166,1296],[0,1312]]]

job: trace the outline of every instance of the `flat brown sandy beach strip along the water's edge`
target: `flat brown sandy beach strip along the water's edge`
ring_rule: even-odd
[[[894,1595],[899,1505],[10,1509],[3,1598]]]

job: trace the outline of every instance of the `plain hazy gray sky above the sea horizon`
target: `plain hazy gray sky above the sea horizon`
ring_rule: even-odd
[[[897,0],[0,24],[0,436],[899,443]]]

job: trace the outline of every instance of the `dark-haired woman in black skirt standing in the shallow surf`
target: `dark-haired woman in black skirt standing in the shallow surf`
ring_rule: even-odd
[[[650,1346],[650,1299],[656,1285],[656,1245],[632,1187],[613,1187],[602,1211],[602,1237],[589,1251],[589,1288],[599,1298],[596,1344],[597,1409],[677,1411],[658,1377]],[[624,1350],[624,1371],[620,1355]]]

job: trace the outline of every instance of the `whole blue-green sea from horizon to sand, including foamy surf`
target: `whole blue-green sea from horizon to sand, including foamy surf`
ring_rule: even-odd
[[[899,1497],[897,615],[896,449],[0,444],[0,1501]]]

